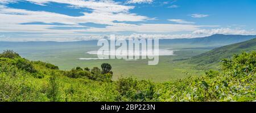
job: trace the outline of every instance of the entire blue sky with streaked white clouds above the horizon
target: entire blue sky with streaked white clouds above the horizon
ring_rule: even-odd
[[[256,34],[255,0],[0,0],[0,41]]]

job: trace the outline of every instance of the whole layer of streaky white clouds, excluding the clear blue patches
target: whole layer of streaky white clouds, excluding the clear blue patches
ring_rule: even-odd
[[[80,16],[70,16],[43,10],[24,10],[7,7],[7,4],[18,3],[21,2],[20,0],[0,0],[0,41],[97,40],[108,38],[109,34],[116,34],[118,38],[122,39],[134,37],[193,38],[215,33],[255,34],[254,31],[244,29],[220,28],[220,25],[197,25],[187,19],[168,19],[168,23],[155,22],[161,20],[158,20],[158,17],[148,17],[132,12],[136,8],[134,4],[153,3],[153,0],[128,0],[126,2],[111,0],[24,1],[37,6],[48,6],[53,2],[62,3],[66,5],[65,8],[86,8],[90,12],[82,11]],[[179,6],[172,5],[170,8],[176,7]],[[205,18],[209,15],[192,14],[189,16]],[[104,25],[104,27],[86,25],[86,23]]]

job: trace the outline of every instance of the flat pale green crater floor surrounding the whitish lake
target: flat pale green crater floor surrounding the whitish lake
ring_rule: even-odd
[[[201,48],[198,48],[201,47]],[[77,58],[97,58],[96,55],[86,54],[87,51],[97,50],[99,47],[90,45],[36,45],[9,47],[20,53],[21,56],[29,60],[41,60],[43,62],[55,64],[60,69],[69,70],[73,67],[98,67],[102,63],[110,63],[113,67],[113,80],[119,77],[135,77],[138,80],[150,79],[152,81],[163,82],[182,79],[191,73],[192,76],[200,76],[204,71],[195,68],[195,64],[188,64],[183,60],[194,55],[199,55],[211,49],[203,45],[160,45],[160,48],[173,48],[176,56],[160,56],[159,64],[148,66],[148,60],[126,61],[122,59],[104,60],[79,60]],[[183,49],[184,48],[184,49]],[[5,49],[5,48],[2,48]]]

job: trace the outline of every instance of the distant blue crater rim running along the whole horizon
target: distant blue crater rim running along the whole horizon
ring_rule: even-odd
[[[220,47],[229,44],[235,44],[251,40],[256,36],[253,35],[231,35],[231,34],[214,34],[208,37],[200,38],[179,38],[179,39],[162,39],[159,40],[160,45],[202,45]],[[97,40],[91,41],[73,41],[73,42],[54,42],[54,41],[29,41],[29,42],[6,42],[0,41],[0,47],[13,46],[69,46],[69,45],[92,45],[97,46]]]

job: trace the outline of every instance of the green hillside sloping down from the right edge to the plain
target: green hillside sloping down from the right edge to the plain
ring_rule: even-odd
[[[237,44],[218,47],[197,56],[193,56],[189,62],[199,65],[217,63],[221,59],[230,58],[233,54],[240,54],[242,51],[256,50],[256,38]]]

